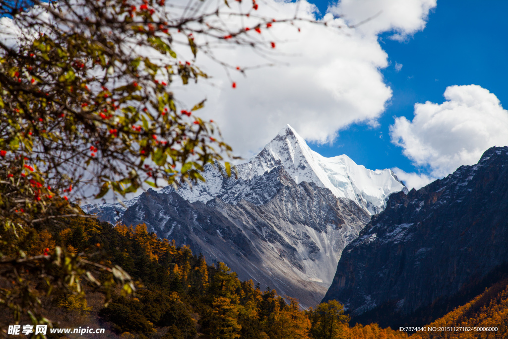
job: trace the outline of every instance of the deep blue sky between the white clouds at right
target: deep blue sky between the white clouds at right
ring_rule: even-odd
[[[313,2],[322,13],[328,2]],[[477,84],[488,89],[508,107],[508,2],[438,1],[425,29],[404,42],[379,37],[391,63],[381,70],[393,90],[379,126],[354,124],[339,132],[333,145],[309,144],[324,156],[345,153],[367,168],[398,167],[406,172],[429,174],[426,166],[414,166],[402,148],[390,141],[394,116],[414,116],[414,104],[442,103],[447,86]],[[374,19],[375,20],[375,19]],[[396,71],[395,64],[402,64]],[[508,133],[508,131],[506,131]]]

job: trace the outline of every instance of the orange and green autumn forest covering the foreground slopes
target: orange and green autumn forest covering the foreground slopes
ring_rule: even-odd
[[[210,265],[186,246],[147,233],[145,225],[126,227],[93,218],[64,218],[58,228],[25,234],[27,255],[50,254],[59,245],[71,256],[100,265],[121,266],[136,281],[136,291],[113,288],[107,297],[96,285],[84,291],[55,289],[32,281],[53,327],[106,328],[91,337],[123,339],[336,339],[336,338],[502,338],[508,333],[508,281],[502,280],[430,327],[497,326],[495,332],[425,331],[406,333],[377,324],[353,324],[332,300],[302,310],[298,300],[253,281],[240,281],[224,263]],[[29,274],[27,272],[26,274]],[[23,274],[21,274],[21,277]],[[99,275],[99,280],[102,276]],[[9,318],[7,309],[2,317]],[[23,323],[21,319],[20,323]],[[72,337],[70,334],[69,337]],[[49,338],[66,337],[48,334]]]

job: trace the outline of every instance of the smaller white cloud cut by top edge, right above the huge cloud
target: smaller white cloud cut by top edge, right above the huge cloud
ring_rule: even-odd
[[[329,11],[366,35],[394,31],[392,39],[404,40],[425,28],[429,11],[436,0],[339,0]],[[369,20],[370,19],[370,20]]]

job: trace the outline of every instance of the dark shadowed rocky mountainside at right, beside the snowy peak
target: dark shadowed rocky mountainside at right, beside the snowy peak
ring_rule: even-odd
[[[410,314],[508,261],[508,147],[407,195],[390,196],[344,249],[324,300],[353,315]]]

